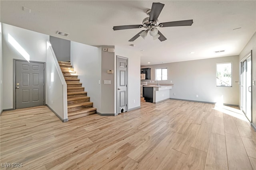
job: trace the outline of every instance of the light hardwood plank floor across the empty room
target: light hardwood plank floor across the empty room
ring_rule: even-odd
[[[237,112],[237,113],[236,113]],[[167,100],[62,123],[46,106],[3,112],[1,169],[256,168],[256,132],[236,107]]]

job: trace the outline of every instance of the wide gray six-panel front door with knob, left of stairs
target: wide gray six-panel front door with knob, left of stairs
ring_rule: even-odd
[[[15,61],[16,109],[44,105],[44,63]]]

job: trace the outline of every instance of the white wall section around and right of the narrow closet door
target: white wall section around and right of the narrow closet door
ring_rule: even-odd
[[[140,54],[115,46],[115,55],[128,58],[128,110],[138,108],[140,107]]]

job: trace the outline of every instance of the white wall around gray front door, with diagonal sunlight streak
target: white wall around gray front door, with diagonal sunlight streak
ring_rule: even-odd
[[[46,40],[49,40],[49,35],[2,23],[3,109],[13,108],[13,59],[25,60],[8,42],[8,34],[28,53],[30,61],[46,61]]]

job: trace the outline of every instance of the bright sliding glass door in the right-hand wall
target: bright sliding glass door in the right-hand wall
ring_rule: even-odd
[[[252,55],[251,52],[241,60],[241,110],[252,122]]]

